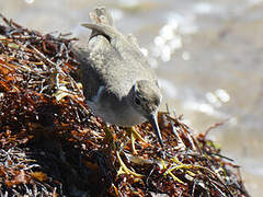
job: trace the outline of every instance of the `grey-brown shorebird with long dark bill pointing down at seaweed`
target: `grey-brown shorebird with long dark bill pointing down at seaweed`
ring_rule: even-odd
[[[162,93],[136,37],[116,30],[105,7],[95,8],[90,18],[93,23],[82,24],[92,31],[88,45],[75,49],[85,102],[111,125],[133,127],[148,120],[163,148],[157,118]]]

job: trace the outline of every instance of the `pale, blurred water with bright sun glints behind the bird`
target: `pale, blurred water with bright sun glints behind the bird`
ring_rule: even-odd
[[[82,37],[95,5],[138,37],[156,68],[164,103],[209,132],[242,166],[252,196],[263,193],[263,0],[0,0],[0,12],[42,32]]]

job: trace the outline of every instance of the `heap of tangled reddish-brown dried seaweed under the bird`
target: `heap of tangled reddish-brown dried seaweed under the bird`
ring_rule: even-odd
[[[76,39],[1,18],[1,196],[249,196],[239,166],[181,117],[159,113],[164,151],[150,124],[136,126],[146,141],[106,128],[84,102]]]

